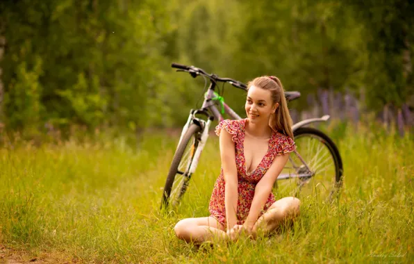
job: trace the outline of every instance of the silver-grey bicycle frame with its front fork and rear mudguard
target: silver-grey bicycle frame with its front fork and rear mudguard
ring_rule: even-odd
[[[201,106],[201,109],[190,110],[190,115],[188,116],[187,122],[183,126],[183,131],[181,132],[181,137],[180,137],[179,142],[181,142],[183,135],[185,134],[185,132],[187,131],[188,127],[190,126],[192,122],[201,126],[201,138],[200,138],[199,146],[197,147],[197,151],[194,154],[192,163],[190,164],[189,173],[188,175],[186,175],[188,176],[188,179],[190,178],[191,174],[194,173],[195,169],[197,168],[199,157],[201,155],[201,151],[204,149],[204,145],[206,144],[206,140],[208,138],[208,130],[210,128],[211,122],[214,119],[217,119],[219,122],[224,120],[220,111],[217,109],[217,103],[216,103],[217,101],[213,100],[213,98],[216,97],[214,94],[214,88],[215,88],[215,83],[211,82],[210,87],[208,88],[208,92],[206,93],[206,96],[204,97],[204,102],[203,102],[203,105]],[[241,119],[241,117],[237,113],[235,113],[235,111],[231,109],[231,107],[225,104],[224,102],[223,102],[223,107],[224,107],[224,113],[226,113],[233,119]],[[208,117],[208,121],[206,122],[204,119],[199,119],[195,117],[197,113],[202,113],[206,115]],[[301,122],[298,122],[297,124],[294,124],[292,126],[292,131],[295,132],[295,130],[299,129],[299,127],[306,126],[307,124],[311,124],[313,122],[326,122],[328,119],[329,119],[329,115],[324,115],[321,118],[305,119],[305,120],[302,120]],[[301,163],[305,165],[306,169],[308,170],[308,173],[279,174],[276,180],[292,179],[292,178],[309,178],[315,175],[313,172],[311,172],[311,169],[308,167],[305,160],[301,157],[301,155],[296,149],[295,149],[295,154],[297,155],[299,160],[301,160]],[[292,165],[295,166],[291,158],[290,158],[290,161]]]

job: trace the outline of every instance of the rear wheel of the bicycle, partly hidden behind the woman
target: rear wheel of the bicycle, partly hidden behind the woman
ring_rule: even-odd
[[[338,148],[328,135],[317,129],[302,127],[294,135],[301,158],[290,154],[275,184],[278,192],[282,196],[331,200],[342,185],[343,167]]]

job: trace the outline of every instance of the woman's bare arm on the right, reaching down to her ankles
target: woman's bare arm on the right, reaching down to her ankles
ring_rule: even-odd
[[[283,170],[283,167],[285,167],[285,164],[288,162],[288,158],[289,154],[281,154],[280,156],[276,156],[272,165],[270,165],[269,170],[267,170],[262,179],[260,179],[260,181],[256,184],[249,215],[247,215],[245,224],[243,224],[248,231],[253,229],[254,224],[258,220],[258,215],[260,214],[263,206],[265,206],[270,192],[272,192],[274,181],[276,181],[277,177]]]

